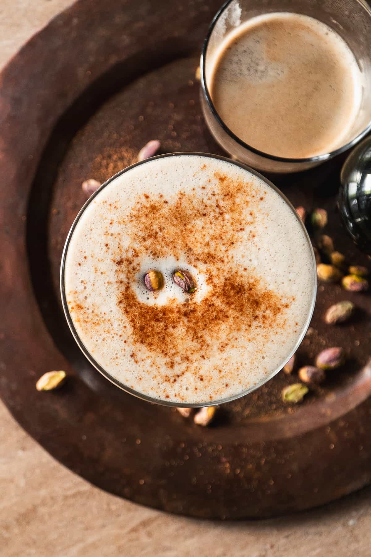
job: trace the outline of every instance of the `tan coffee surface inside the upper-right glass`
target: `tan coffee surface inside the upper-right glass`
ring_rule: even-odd
[[[293,13],[254,17],[230,32],[208,63],[217,112],[256,149],[306,158],[351,139],[362,74],[324,23]]]

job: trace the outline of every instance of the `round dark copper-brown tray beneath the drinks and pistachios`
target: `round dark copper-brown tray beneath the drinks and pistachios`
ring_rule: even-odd
[[[215,0],[79,0],[0,75],[0,395],[51,455],[107,491],[198,517],[267,517],[370,482],[369,296],[320,287],[299,359],[331,345],[348,359],[304,404],[283,406],[280,390],[294,379],[278,374],[201,428],[103,379],[75,345],[58,292],[82,180],[110,177],[150,139],[161,140],[161,152],[222,154],[194,78],[217,8]],[[335,245],[362,264],[336,214],[342,162],[269,178],[295,206],[327,208]],[[329,328],[324,309],[345,298],[362,309]],[[36,379],[51,369],[65,369],[67,384],[38,393]]]

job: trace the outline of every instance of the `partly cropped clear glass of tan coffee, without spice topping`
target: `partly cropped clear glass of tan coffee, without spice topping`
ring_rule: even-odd
[[[231,0],[201,56],[206,123],[254,168],[295,172],[371,128],[371,11],[362,0]]]

